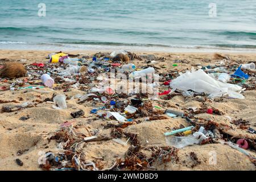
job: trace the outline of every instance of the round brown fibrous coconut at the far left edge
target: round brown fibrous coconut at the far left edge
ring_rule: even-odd
[[[27,75],[26,68],[21,63],[5,63],[0,69],[0,77],[19,78]]]

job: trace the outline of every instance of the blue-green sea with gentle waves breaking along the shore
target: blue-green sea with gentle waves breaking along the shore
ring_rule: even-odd
[[[0,49],[255,52],[256,1],[1,0]]]

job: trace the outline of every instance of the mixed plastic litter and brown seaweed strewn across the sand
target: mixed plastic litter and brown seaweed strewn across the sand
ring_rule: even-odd
[[[52,104],[56,110],[68,109],[67,101],[76,100],[79,105],[90,106],[89,119],[86,121],[102,121],[104,129],[112,129],[110,135],[102,135],[101,131],[88,129],[84,123],[77,121],[64,122],[55,133],[49,133],[48,139],[55,140],[59,152],[51,151],[46,154],[46,164],[40,165],[46,170],[142,170],[155,169],[155,163],[179,162],[177,151],[181,148],[195,144],[221,143],[249,156],[255,163],[255,157],[247,150],[256,150],[255,128],[243,119],[228,118],[230,125],[219,124],[213,120],[196,117],[200,113],[211,115],[225,115],[217,108],[205,102],[226,99],[244,100],[243,92],[256,89],[254,63],[230,65],[229,57],[215,55],[221,58],[220,64],[207,67],[197,66],[197,70],[183,73],[175,70],[160,72],[154,65],[156,60],[163,57],[154,55],[137,56],[127,51],[112,53],[96,53],[93,56],[70,55],[68,53],[52,53],[48,56],[49,63],[33,63],[26,65],[27,78],[8,80],[1,78],[2,82],[10,84],[10,88],[1,86],[1,91],[11,90],[16,92],[48,93],[50,90],[63,90],[61,94],[53,94],[48,100],[34,100],[17,105],[18,101],[0,101],[5,105],[3,112],[13,112],[27,107],[36,107],[42,102]],[[145,60],[146,66],[137,66],[130,60]],[[178,63],[187,63],[187,60],[176,60]],[[128,78],[137,78],[143,73],[152,77],[152,83],[146,84],[147,93],[136,92],[136,88],[127,93],[116,92],[111,85],[104,87],[105,83],[112,80],[109,74],[114,69],[114,76],[122,73]],[[156,76],[158,81],[156,80]],[[142,79],[142,78],[141,78]],[[122,81],[119,82],[121,86]],[[120,86],[120,85],[119,85]],[[143,86],[139,81],[138,88]],[[158,92],[155,89],[158,88]],[[84,94],[68,97],[65,93],[71,90],[80,90]],[[166,101],[175,96],[182,96],[185,100],[201,102],[199,107],[170,106]],[[85,110],[76,110],[71,113],[73,119],[84,117]],[[22,117],[26,120],[29,117]],[[163,119],[184,119],[186,126],[166,129],[164,137],[167,147],[143,146],[138,142],[138,134],[124,132],[130,125],[139,125],[143,122]],[[80,133],[79,129],[86,129],[87,134]],[[235,136],[230,130],[237,128],[244,131],[244,135]],[[125,139],[125,141],[123,141]],[[118,159],[112,166],[105,167],[99,160],[87,160],[82,150],[85,143],[113,140],[123,146],[130,145],[125,158]],[[143,151],[150,151],[147,156]],[[195,153],[190,154],[195,165]]]

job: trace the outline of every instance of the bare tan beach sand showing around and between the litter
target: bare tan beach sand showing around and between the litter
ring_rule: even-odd
[[[53,51],[12,51],[0,50],[0,64],[6,62],[19,62],[24,65],[32,63],[49,64],[46,57]],[[98,51],[65,51],[70,54],[80,54],[92,59],[94,53]],[[101,51],[102,52],[102,51]],[[111,52],[111,51],[106,51]],[[192,67],[200,69],[208,65],[214,66],[220,64],[222,59],[214,58],[214,53],[161,53],[161,52],[134,52],[139,55],[155,55],[154,61],[150,63],[147,59],[134,59],[130,62],[136,65],[137,68],[154,66],[158,74],[185,72],[191,70]],[[244,63],[255,63],[256,54],[253,53],[221,53],[227,56],[230,60],[224,64],[225,68],[231,69],[230,64],[239,66]],[[57,63],[58,64],[58,63]],[[177,66],[173,66],[177,64]],[[230,72],[231,73],[231,72]],[[232,73],[231,73],[232,74]],[[255,71],[250,71],[250,74],[255,74]],[[16,78],[23,80],[23,78]],[[174,77],[175,78],[175,77]],[[14,81],[14,80],[13,80]],[[160,80],[160,84],[163,84]],[[253,148],[246,150],[251,156],[256,157],[256,134],[251,134],[247,131],[250,126],[256,129],[256,89],[255,76],[250,76],[249,80],[252,85],[247,87],[242,95],[244,100],[222,97],[215,100],[209,100],[207,96],[184,97],[182,94],[171,94],[170,97],[161,97],[159,100],[150,101],[152,106],[158,106],[164,109],[175,109],[185,113],[191,113],[191,108],[195,108],[198,112],[192,112],[192,120],[197,123],[206,124],[209,121],[217,123],[216,125],[222,128],[221,135],[225,139],[236,141],[240,138],[245,138],[254,143]],[[36,81],[36,85],[43,86],[40,80]],[[35,81],[33,82],[35,83]],[[254,83],[254,85],[253,85]],[[10,88],[11,80],[1,79],[1,87]],[[131,146],[131,138],[127,145],[122,145],[112,140],[113,127],[106,127],[110,121],[96,117],[91,114],[90,110],[94,107],[102,106],[102,103],[93,100],[86,101],[82,104],[77,104],[77,99],[71,99],[76,94],[89,93],[89,88],[76,89],[65,88],[61,89],[43,88],[45,92],[36,92],[31,89],[20,90],[1,90],[0,91],[0,107],[9,105],[20,105],[23,102],[34,102],[34,107],[27,107],[13,112],[3,112],[0,117],[0,170],[42,170],[38,160],[42,152],[51,151],[57,154],[60,151],[58,141],[51,138],[55,132],[60,129],[60,125],[65,122],[72,122],[72,125],[79,133],[85,137],[109,137],[111,139],[96,140],[92,142],[84,142],[77,146],[85,155],[87,161],[96,164],[98,169],[117,169],[117,163],[120,160],[125,160],[127,151]],[[29,86],[24,84],[22,86]],[[243,87],[245,88],[245,87]],[[65,92],[64,92],[65,91]],[[52,108],[52,103],[46,102],[47,98],[52,98],[53,94],[63,93],[67,98],[68,109],[56,110]],[[199,97],[201,99],[199,99]],[[221,114],[208,114],[205,111],[200,112],[204,108],[215,108]],[[84,117],[72,118],[71,113],[76,110],[83,110]],[[141,146],[140,152],[147,159],[152,158],[152,154],[156,154],[156,150],[152,148],[168,147],[164,133],[172,129],[179,129],[190,126],[185,118],[168,117],[166,114],[160,114],[166,118],[154,119],[145,121],[142,118],[137,118],[137,124],[128,125],[122,128],[123,133],[136,133],[137,142]],[[228,116],[228,117],[227,117]],[[27,119],[20,119],[27,117]],[[230,119],[231,118],[231,121]],[[235,120],[243,119],[246,121],[247,127],[241,127]],[[122,136],[123,142],[126,142],[129,137]],[[194,144],[184,148],[175,150],[175,159],[171,158],[167,162],[163,160],[154,160],[150,168],[139,168],[148,170],[255,170],[255,159],[252,160],[241,151],[216,142],[206,144]],[[216,163],[209,162],[211,154],[216,154]],[[193,157],[194,156],[194,157]],[[171,156],[173,157],[173,156]],[[23,162],[23,166],[16,163],[16,159]],[[114,166],[113,166],[114,165]],[[121,164],[120,164],[121,165]],[[129,170],[131,168],[119,169]]]

